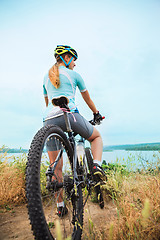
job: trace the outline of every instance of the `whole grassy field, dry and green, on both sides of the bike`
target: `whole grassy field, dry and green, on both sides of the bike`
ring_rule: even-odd
[[[116,206],[117,216],[110,223],[109,229],[104,228],[101,232],[94,229],[93,223],[94,239],[159,239],[160,154],[157,154],[156,159],[154,165],[149,165],[148,169],[134,172],[118,163],[103,164],[108,176],[103,192]],[[14,157],[12,162],[8,160],[7,153],[0,154],[0,206],[3,209],[26,201],[27,155],[24,153],[20,157]],[[42,181],[45,169],[44,166]]]

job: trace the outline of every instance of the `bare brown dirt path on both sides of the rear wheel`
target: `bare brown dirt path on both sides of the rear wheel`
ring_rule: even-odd
[[[105,203],[104,209],[89,201],[85,207],[84,234],[89,233],[88,221],[92,220],[95,229],[109,228],[110,222],[116,216],[116,208],[112,201]],[[0,212],[0,240],[18,239],[33,240],[28,220],[26,205],[14,207],[7,212]]]

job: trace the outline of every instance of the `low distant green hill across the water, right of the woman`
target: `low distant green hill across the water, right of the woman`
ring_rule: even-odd
[[[160,151],[160,143],[141,143],[104,146],[103,151],[126,150],[126,151]]]

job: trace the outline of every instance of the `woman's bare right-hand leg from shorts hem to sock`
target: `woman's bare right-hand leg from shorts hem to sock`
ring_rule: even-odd
[[[97,161],[102,161],[102,151],[103,151],[103,142],[100,133],[94,127],[92,135],[87,139],[91,142],[91,151],[93,159]]]

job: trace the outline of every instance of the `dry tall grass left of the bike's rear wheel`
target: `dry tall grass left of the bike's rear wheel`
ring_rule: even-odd
[[[0,154],[0,206],[25,201],[26,160],[26,154],[20,157]]]

